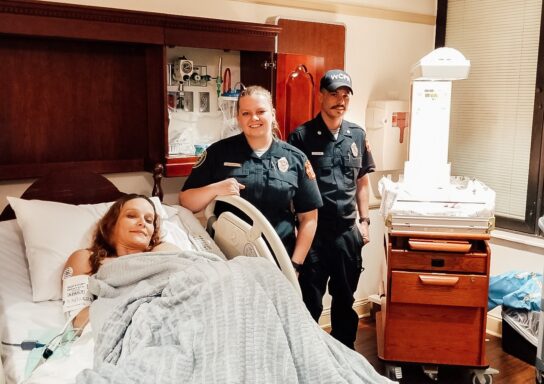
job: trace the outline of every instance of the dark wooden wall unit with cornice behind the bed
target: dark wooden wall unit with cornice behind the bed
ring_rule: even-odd
[[[0,180],[78,164],[183,175],[169,162],[166,50],[240,51],[241,78],[272,89],[281,27],[25,0],[0,2]],[[250,63],[250,64],[248,64]],[[246,80],[247,79],[247,80]],[[187,168],[188,167],[188,168]]]

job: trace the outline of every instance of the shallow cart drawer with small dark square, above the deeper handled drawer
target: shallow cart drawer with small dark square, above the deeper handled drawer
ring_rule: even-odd
[[[391,269],[481,274],[487,272],[487,255],[483,253],[465,255],[393,249],[388,262]]]

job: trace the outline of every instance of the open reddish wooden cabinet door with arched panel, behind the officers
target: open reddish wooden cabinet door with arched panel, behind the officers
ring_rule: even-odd
[[[324,59],[312,55],[277,54],[276,119],[282,139],[319,110],[319,79]]]

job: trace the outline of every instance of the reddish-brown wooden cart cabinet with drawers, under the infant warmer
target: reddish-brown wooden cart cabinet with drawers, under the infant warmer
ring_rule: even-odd
[[[388,237],[386,303],[376,315],[379,357],[487,366],[487,240],[410,236]]]

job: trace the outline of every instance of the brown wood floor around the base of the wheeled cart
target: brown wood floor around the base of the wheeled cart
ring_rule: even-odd
[[[377,357],[376,323],[370,318],[359,322],[355,349],[382,374],[385,374],[385,364]],[[534,384],[535,368],[514,356],[503,352],[501,339],[488,335],[486,339],[486,353],[490,367],[499,370],[493,376],[493,384]],[[438,381],[433,381],[425,375],[421,365],[401,364],[401,384],[470,384],[471,371],[466,367],[441,366],[438,370]]]

